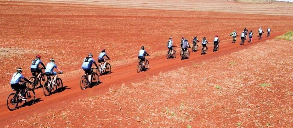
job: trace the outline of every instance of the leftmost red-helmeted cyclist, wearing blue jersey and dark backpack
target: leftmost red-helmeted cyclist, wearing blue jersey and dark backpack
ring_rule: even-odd
[[[31,74],[36,78],[38,79],[39,76],[41,75],[41,72],[42,72],[42,69],[39,68],[39,64],[42,64],[42,66],[45,68],[45,65],[43,64],[42,60],[41,60],[41,56],[40,55],[37,55],[36,56],[36,59],[34,59],[32,62],[31,62]],[[38,76],[36,76],[36,73],[39,73]]]

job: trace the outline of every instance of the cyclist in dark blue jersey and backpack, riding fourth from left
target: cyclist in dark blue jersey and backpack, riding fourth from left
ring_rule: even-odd
[[[92,63],[94,63],[96,65],[96,67],[98,67],[96,61],[92,58],[92,53],[89,53],[88,57],[85,57],[85,59],[83,60],[82,66],[81,68],[85,71],[85,75],[88,75],[88,85],[90,87],[91,86],[91,78],[92,78]]]

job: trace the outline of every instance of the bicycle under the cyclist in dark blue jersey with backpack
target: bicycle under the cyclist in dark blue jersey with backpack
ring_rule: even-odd
[[[92,85],[89,85],[89,74],[86,74],[86,75],[83,75],[81,76],[80,78],[80,83],[79,83],[79,86],[81,89],[86,89],[88,88],[89,86],[96,86],[98,85],[98,82],[99,82],[99,76],[96,72],[93,71],[93,69],[98,69],[98,68],[91,68],[91,72],[92,72],[92,78],[91,78],[91,81],[92,81]]]

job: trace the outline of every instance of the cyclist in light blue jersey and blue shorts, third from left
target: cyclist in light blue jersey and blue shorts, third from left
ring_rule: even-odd
[[[46,70],[45,70],[45,74],[47,76],[50,76],[50,75],[55,75],[54,78],[53,78],[53,81],[52,81],[52,84],[55,84],[55,81],[56,81],[56,78],[57,78],[57,72],[56,71],[53,71],[53,69],[56,68],[58,71],[60,71],[61,73],[63,73],[63,71],[61,71],[58,66],[55,64],[55,59],[50,59],[50,62],[46,65]]]

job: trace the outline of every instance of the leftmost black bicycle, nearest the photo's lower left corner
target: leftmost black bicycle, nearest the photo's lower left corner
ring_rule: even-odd
[[[27,84],[27,82],[23,82],[23,84]],[[17,108],[17,106],[18,106],[18,103],[22,103],[22,97],[23,96],[19,97],[19,93],[21,91],[25,91],[24,92],[24,97],[27,98],[27,100],[24,100],[25,103],[27,105],[34,104],[34,100],[36,99],[36,95],[34,93],[34,90],[28,88],[28,86],[25,86],[24,90],[14,90],[14,89],[12,89],[12,90],[16,91],[16,93],[9,94],[9,96],[7,97],[7,102],[6,102],[6,106],[10,111],[15,110]]]

